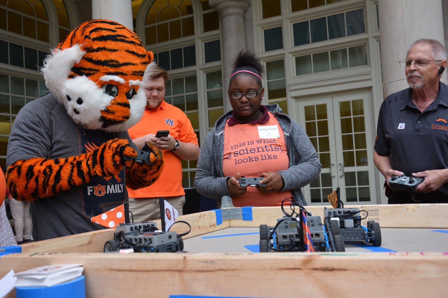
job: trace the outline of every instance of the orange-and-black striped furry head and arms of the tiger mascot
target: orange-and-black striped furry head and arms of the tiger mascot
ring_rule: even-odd
[[[137,123],[145,109],[139,87],[152,60],[134,32],[114,21],[92,20],[60,42],[42,71],[47,87],[73,121],[90,130],[123,131]],[[84,185],[93,176],[114,176],[126,167],[126,185],[146,187],[160,176],[163,155],[151,143],[143,150],[152,151],[152,165],[124,159],[137,156],[127,139],[112,139],[67,158],[17,160],[7,170],[7,186],[17,200],[32,201]]]

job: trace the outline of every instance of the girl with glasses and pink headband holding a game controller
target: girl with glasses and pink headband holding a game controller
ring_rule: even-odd
[[[241,52],[230,76],[233,111],[207,134],[199,155],[194,186],[235,206],[279,206],[285,198],[306,205],[300,188],[314,180],[321,164],[302,126],[278,105],[261,105],[264,67],[251,52]],[[241,187],[238,179],[264,176],[264,187]]]

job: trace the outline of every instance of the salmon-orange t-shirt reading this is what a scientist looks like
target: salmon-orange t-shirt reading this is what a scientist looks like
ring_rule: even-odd
[[[234,124],[226,122],[224,128],[224,176],[239,172],[246,177],[259,177],[263,172],[278,172],[289,168],[288,152],[284,134],[276,117],[269,114],[263,124]],[[232,197],[233,205],[280,206],[281,202],[292,199],[291,191],[263,193],[248,186],[241,197]]]

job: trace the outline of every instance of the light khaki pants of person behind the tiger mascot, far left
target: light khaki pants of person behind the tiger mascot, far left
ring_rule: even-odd
[[[14,219],[14,231],[16,232],[16,241],[31,239],[31,215],[30,202],[21,202],[15,199],[9,200],[9,209]]]

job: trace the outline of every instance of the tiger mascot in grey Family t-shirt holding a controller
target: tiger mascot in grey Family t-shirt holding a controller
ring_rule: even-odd
[[[149,186],[161,174],[163,155],[151,143],[142,148],[151,165],[125,159],[137,156],[127,129],[144,112],[153,58],[128,28],[91,20],[45,59],[51,93],[17,114],[7,153],[7,187],[32,201],[34,239],[102,228],[90,218],[127,201],[126,186]]]

